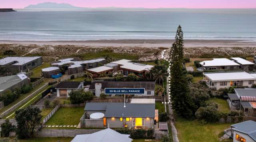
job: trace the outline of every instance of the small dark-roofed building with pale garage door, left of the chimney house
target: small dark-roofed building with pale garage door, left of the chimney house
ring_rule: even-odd
[[[57,97],[69,97],[68,93],[72,90],[81,90],[84,88],[83,82],[62,81],[56,86]]]

